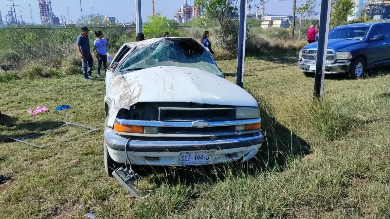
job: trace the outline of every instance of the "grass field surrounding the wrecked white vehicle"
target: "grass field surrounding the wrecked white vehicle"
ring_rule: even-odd
[[[296,54],[247,58],[245,89],[262,108],[266,142],[243,165],[141,168],[151,196],[130,197],[103,165],[103,131],[34,148],[7,140],[74,122],[103,129],[104,81],[82,76],[0,83],[0,218],[389,218],[390,76],[326,77],[324,103]],[[236,60],[218,62],[235,81]],[[69,104],[72,109],[57,112]],[[35,117],[28,109],[46,106]],[[29,139],[46,144],[83,129]],[[78,162],[71,161],[78,159]],[[77,208],[81,205],[82,208]]]

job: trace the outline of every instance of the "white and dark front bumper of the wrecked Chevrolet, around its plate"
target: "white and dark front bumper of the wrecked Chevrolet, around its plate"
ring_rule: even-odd
[[[134,138],[134,137],[133,137]],[[257,154],[264,136],[261,132],[252,134],[221,137],[218,139],[187,140],[187,138],[152,138],[149,141],[143,138],[134,138],[129,141],[129,136],[120,136],[106,127],[104,143],[108,153],[115,162],[125,163],[126,152],[124,150],[129,141],[127,153],[131,164],[180,166],[179,155],[181,152],[209,151],[213,153],[210,164],[247,161]],[[202,140],[199,140],[202,139]]]

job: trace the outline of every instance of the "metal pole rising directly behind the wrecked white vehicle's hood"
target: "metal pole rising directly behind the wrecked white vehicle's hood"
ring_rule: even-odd
[[[244,87],[244,62],[245,62],[245,37],[246,37],[246,8],[247,0],[240,3],[240,23],[238,28],[238,54],[237,54],[237,82],[241,88]]]

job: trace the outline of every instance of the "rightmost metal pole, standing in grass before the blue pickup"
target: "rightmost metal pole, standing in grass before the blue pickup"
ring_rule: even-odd
[[[316,74],[314,76],[314,99],[322,102],[325,81],[326,53],[328,51],[328,36],[330,11],[332,9],[331,0],[321,1],[321,11],[319,18],[319,34],[317,44]]]

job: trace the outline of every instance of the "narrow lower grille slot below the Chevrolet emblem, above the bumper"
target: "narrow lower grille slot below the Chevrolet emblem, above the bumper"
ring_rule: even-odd
[[[200,134],[202,132],[234,132],[235,127],[234,126],[216,126],[216,127],[206,127],[203,129],[193,128],[193,127],[160,127],[159,132],[164,134],[191,134],[191,133],[197,133]]]

